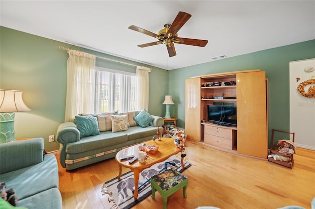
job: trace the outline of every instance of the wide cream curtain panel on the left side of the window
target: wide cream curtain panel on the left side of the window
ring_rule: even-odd
[[[69,50],[64,122],[79,113],[94,113],[95,55]]]

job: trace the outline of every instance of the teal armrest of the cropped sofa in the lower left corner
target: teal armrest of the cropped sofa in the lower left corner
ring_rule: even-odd
[[[0,174],[43,161],[44,139],[34,138],[0,144]]]

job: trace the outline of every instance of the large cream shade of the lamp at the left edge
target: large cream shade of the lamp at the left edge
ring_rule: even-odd
[[[23,112],[31,109],[22,100],[23,91],[0,89],[0,112]]]

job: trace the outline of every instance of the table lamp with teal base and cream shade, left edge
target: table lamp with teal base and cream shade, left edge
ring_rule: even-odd
[[[16,141],[14,136],[15,112],[30,111],[22,100],[23,91],[0,89],[0,143]]]

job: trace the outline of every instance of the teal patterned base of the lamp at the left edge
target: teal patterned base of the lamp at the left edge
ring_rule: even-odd
[[[14,136],[15,112],[0,113],[0,144],[16,141]]]

